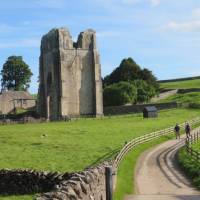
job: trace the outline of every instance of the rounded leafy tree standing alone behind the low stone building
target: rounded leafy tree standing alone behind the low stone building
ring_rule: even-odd
[[[33,75],[22,56],[10,56],[1,70],[1,85],[8,90],[27,90]]]

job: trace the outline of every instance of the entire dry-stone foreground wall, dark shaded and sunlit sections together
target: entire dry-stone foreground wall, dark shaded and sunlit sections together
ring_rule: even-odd
[[[0,170],[0,194],[37,195],[36,200],[105,200],[104,162],[78,173],[37,172],[34,170]]]

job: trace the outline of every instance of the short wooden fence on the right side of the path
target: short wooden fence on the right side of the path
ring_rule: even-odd
[[[200,132],[197,131],[191,137],[186,138],[185,147],[187,153],[196,161],[200,163],[200,152],[192,148],[193,144],[196,144],[200,141]]]

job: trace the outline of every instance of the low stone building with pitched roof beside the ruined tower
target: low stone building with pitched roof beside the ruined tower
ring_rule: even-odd
[[[6,115],[15,108],[29,109],[35,106],[36,100],[25,91],[3,91],[0,93],[0,115]]]

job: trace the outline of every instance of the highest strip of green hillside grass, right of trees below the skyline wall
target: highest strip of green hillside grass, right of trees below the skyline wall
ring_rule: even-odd
[[[160,83],[160,88],[163,89],[200,88],[200,79]]]

